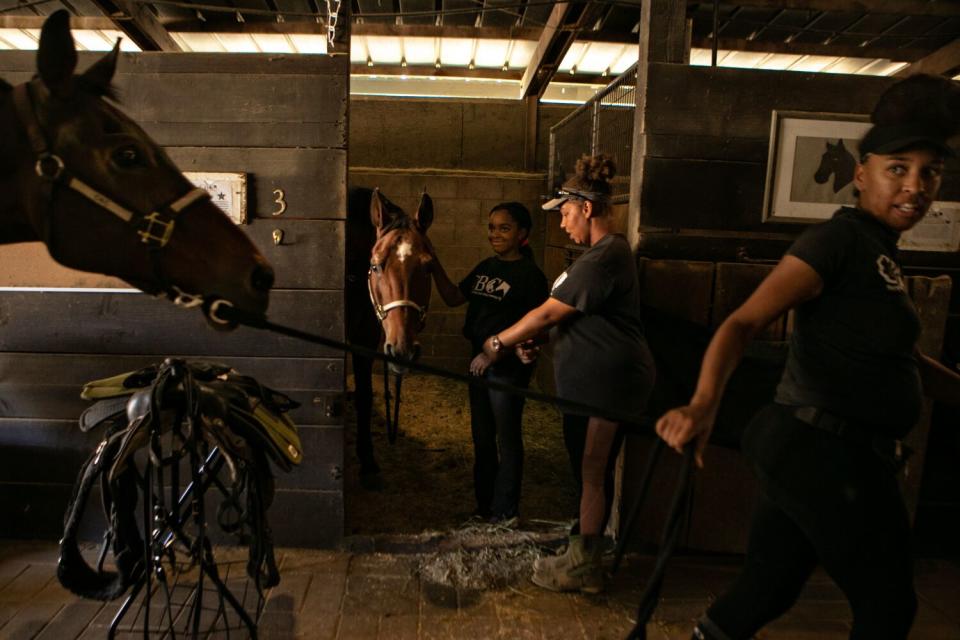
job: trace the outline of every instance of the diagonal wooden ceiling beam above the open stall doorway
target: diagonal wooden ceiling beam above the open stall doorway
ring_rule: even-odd
[[[588,0],[583,4],[558,2],[537,41],[520,82],[520,97],[541,96],[563,61],[577,35],[599,17],[604,5]]]

